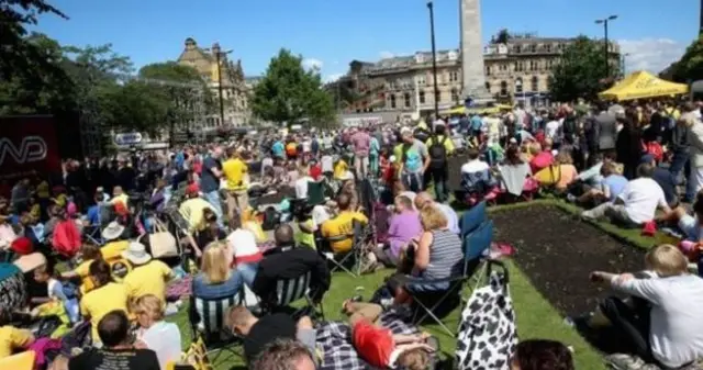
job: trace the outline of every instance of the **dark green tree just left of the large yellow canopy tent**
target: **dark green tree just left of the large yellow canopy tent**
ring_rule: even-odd
[[[606,76],[603,43],[579,36],[563,49],[551,69],[549,92],[556,101],[596,99],[598,93],[607,89],[620,74],[617,64],[612,60],[609,74]]]

